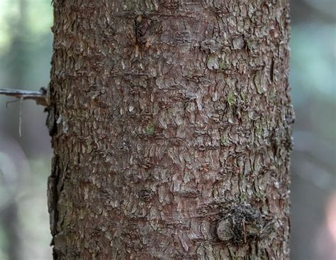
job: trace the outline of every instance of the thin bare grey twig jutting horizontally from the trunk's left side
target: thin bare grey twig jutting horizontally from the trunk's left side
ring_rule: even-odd
[[[44,107],[49,105],[47,90],[44,87],[41,87],[39,91],[0,89],[0,94],[18,99],[32,99],[35,100],[36,104],[40,104]]]

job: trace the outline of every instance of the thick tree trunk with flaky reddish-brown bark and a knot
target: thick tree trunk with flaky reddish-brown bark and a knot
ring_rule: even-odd
[[[288,1],[54,8],[54,259],[288,259]]]

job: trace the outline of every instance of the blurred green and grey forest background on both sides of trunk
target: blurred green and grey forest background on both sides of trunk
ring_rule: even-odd
[[[336,259],[336,1],[291,0],[291,259]],[[50,0],[0,0],[0,88],[47,86]],[[52,259],[47,114],[0,97],[0,259]]]

